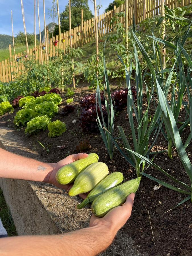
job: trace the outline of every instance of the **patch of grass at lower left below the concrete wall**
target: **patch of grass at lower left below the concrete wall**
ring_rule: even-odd
[[[0,189],[0,218],[3,223],[4,228],[7,230],[8,236],[16,236],[16,228],[11,216],[10,210],[6,205],[3,191]]]

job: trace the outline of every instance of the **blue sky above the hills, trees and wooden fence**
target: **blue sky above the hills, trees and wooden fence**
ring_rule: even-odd
[[[37,2],[37,1],[36,1]],[[103,6],[100,9],[100,13],[104,13],[106,7],[108,7],[109,3],[113,2],[113,0],[101,0],[101,5]],[[65,9],[65,5],[67,5],[68,1],[59,0],[59,12],[61,13]],[[90,9],[94,14],[94,5],[92,1],[88,1]],[[97,0],[97,4],[99,4],[99,0]],[[25,23],[26,30],[29,33],[34,32],[34,0],[23,0],[24,5],[24,14],[25,14]],[[37,3],[36,3],[37,5]],[[45,0],[45,9],[46,9],[46,24],[51,22],[49,19],[48,8],[52,5],[52,0]],[[22,12],[21,12],[21,2],[20,0],[0,0],[0,34],[12,35],[11,31],[11,10],[13,11],[13,30],[14,36],[21,30],[24,31],[23,28],[23,20],[22,20]],[[41,31],[44,28],[44,19],[43,19],[43,1],[39,0],[39,9],[40,9],[40,24]],[[37,10],[36,10],[37,17]],[[36,33],[39,33],[38,27],[38,18],[36,19]]]

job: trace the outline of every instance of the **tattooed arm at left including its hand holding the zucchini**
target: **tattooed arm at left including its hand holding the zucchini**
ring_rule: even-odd
[[[88,154],[79,153],[67,156],[57,163],[43,163],[0,148],[0,177],[42,181],[68,190],[72,185],[59,184],[55,179],[56,172],[62,166],[87,156]]]

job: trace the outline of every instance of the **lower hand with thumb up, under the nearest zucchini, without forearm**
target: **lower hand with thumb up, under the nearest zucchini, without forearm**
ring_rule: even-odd
[[[131,216],[134,197],[135,194],[131,193],[122,206],[113,208],[103,218],[98,218],[92,214],[89,226],[103,226],[105,229],[109,228],[109,230],[116,234],[117,231],[122,228],[123,225],[125,225]]]

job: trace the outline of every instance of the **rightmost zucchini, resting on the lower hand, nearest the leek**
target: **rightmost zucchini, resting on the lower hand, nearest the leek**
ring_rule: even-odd
[[[129,194],[135,193],[139,188],[141,177],[126,181],[125,183],[114,187],[107,192],[99,195],[93,201],[91,210],[97,217],[103,217],[114,207],[125,203]]]

